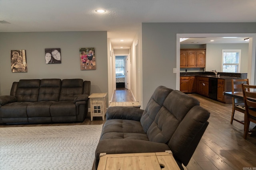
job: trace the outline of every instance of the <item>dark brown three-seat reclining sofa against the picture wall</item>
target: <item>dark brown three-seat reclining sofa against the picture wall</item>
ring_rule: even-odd
[[[88,113],[90,81],[31,79],[13,82],[0,96],[0,123],[82,122]]]

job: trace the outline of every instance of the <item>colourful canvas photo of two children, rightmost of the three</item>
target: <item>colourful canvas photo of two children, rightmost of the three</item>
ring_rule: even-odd
[[[96,70],[95,48],[80,48],[80,70]]]

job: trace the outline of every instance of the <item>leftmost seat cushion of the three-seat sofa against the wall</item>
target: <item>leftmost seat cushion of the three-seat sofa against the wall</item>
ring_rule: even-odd
[[[0,107],[1,117],[28,117],[27,107],[32,102],[14,102]]]

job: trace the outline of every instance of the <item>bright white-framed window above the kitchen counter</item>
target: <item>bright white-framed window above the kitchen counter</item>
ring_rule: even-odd
[[[241,50],[222,50],[222,72],[240,72]]]

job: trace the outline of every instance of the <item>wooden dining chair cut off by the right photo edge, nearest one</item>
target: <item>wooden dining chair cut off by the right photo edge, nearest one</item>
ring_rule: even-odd
[[[244,139],[247,138],[250,122],[256,123],[256,86],[242,84],[245,116],[244,116]]]

